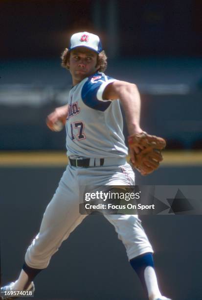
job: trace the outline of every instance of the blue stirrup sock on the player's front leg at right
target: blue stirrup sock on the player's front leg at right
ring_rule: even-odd
[[[135,270],[136,274],[138,275],[144,291],[148,294],[146,282],[145,282],[145,276],[144,271],[147,267],[154,268],[154,260],[152,253],[144,253],[141,254],[133,259],[130,260],[130,264],[132,268]]]

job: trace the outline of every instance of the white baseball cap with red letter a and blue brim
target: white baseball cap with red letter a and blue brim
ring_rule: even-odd
[[[74,33],[71,36],[69,50],[73,50],[77,47],[86,47],[97,53],[102,51],[102,44],[99,36],[87,31]]]

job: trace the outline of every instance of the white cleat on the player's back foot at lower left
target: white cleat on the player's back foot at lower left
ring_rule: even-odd
[[[34,282],[31,282],[29,288],[27,290],[24,290],[24,291],[14,291],[14,289],[13,289],[14,284],[15,284],[15,282],[10,282],[9,284],[7,284],[7,285],[0,288],[0,299],[1,300],[13,300],[13,299],[16,299],[16,298],[21,298],[21,296],[23,295],[22,294],[23,292],[24,293],[25,292],[32,292],[32,295],[34,294],[34,291],[35,291]],[[10,292],[13,292],[12,296],[11,296]],[[19,296],[16,297],[17,295],[19,295]]]

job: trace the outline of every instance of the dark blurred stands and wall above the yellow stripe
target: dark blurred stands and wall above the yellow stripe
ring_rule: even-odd
[[[1,0],[0,149],[63,150],[45,117],[65,104],[69,37],[92,31],[107,74],[137,84],[142,127],[167,149],[202,149],[202,1]]]

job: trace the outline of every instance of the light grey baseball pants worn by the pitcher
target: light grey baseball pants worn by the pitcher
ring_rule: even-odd
[[[135,185],[135,175],[125,159],[105,159],[104,166],[83,168],[67,165],[59,186],[46,207],[39,233],[25,254],[26,264],[45,269],[51,256],[87,217],[79,213],[82,188],[86,185]],[[123,242],[128,259],[153,252],[137,215],[104,215]]]

